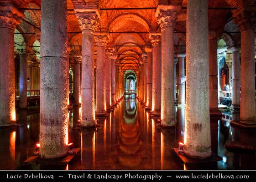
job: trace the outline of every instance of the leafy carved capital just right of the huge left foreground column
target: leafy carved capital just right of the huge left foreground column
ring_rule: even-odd
[[[99,23],[99,16],[96,12],[76,12],[81,30],[95,31]]]

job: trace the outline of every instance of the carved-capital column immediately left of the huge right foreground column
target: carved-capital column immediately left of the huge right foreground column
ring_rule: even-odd
[[[162,32],[161,124],[175,126],[173,29],[180,6],[158,5],[157,22]]]

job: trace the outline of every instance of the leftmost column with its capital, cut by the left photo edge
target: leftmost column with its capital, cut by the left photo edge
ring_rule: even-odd
[[[16,120],[14,30],[23,16],[11,4],[0,5],[0,127],[13,126]]]

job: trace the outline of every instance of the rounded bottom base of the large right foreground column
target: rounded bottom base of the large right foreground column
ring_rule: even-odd
[[[212,156],[211,148],[195,148],[184,145],[184,153],[188,157],[206,159]]]

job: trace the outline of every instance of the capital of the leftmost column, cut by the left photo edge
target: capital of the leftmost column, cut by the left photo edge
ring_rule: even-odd
[[[10,3],[0,5],[0,27],[15,29],[24,15]]]

